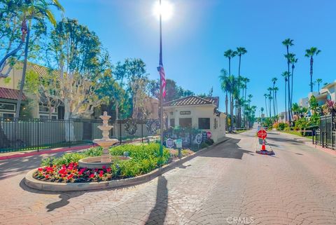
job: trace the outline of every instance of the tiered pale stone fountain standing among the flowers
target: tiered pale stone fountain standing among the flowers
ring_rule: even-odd
[[[99,125],[99,130],[103,132],[102,139],[94,139],[93,142],[102,146],[103,153],[102,156],[88,157],[83,158],[78,161],[80,168],[89,168],[89,169],[102,169],[103,167],[110,168],[114,161],[125,161],[130,160],[128,156],[111,156],[109,153],[109,147],[118,142],[118,139],[110,139],[109,132],[113,128],[113,125],[109,125],[109,118],[111,116],[107,115],[107,112],[104,111],[104,115],[100,116],[103,120],[103,125]]]

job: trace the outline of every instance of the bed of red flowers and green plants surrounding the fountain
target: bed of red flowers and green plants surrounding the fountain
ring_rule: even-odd
[[[110,149],[112,156],[123,156],[127,151],[132,158],[130,161],[116,161],[111,168],[87,169],[78,168],[78,161],[89,156],[100,156],[102,148],[94,147],[80,153],[65,154],[59,158],[43,160],[42,168],[34,172],[35,179],[45,182],[102,182],[113,179],[137,177],[151,172],[164,165],[171,158],[169,150],[163,149],[160,156],[160,145],[156,143],[132,145],[125,144]]]

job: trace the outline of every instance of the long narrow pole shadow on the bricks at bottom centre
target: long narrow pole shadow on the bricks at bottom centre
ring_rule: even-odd
[[[163,176],[158,178],[158,188],[156,191],[156,202],[153,210],[149,214],[146,225],[164,224],[168,207],[167,179]]]

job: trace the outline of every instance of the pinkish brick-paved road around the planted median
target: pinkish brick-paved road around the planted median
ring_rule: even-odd
[[[276,156],[260,156],[254,132],[231,137],[127,189],[41,193],[2,177],[0,224],[336,224],[335,156],[272,134]]]

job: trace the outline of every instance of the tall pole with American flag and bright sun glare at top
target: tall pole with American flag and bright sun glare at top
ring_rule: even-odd
[[[160,156],[163,155],[163,108],[162,102],[166,95],[166,78],[165,69],[163,68],[162,61],[162,19],[169,20],[172,17],[173,7],[168,1],[159,0],[154,6],[154,12],[159,15],[160,19],[160,60],[158,66],[158,72],[160,74]]]

